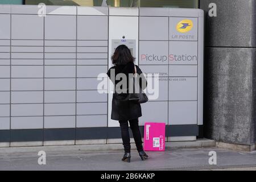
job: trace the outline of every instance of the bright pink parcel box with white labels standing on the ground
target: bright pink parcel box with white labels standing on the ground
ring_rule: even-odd
[[[144,150],[164,151],[166,123],[146,122],[144,125]]]

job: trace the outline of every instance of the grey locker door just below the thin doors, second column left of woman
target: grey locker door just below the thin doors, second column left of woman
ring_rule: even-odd
[[[44,77],[76,77],[76,66],[45,66]]]

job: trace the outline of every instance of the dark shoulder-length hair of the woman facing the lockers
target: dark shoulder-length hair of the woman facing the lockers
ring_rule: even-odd
[[[131,55],[130,49],[123,44],[115,49],[111,59],[114,65],[125,65],[129,62],[134,62],[135,60],[133,55]]]

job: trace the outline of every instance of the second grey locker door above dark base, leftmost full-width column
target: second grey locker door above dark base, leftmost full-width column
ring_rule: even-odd
[[[12,104],[11,116],[42,116],[43,104]]]

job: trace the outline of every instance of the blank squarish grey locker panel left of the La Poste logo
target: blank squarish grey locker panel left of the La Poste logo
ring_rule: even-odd
[[[139,40],[168,40],[168,17],[139,17]]]

